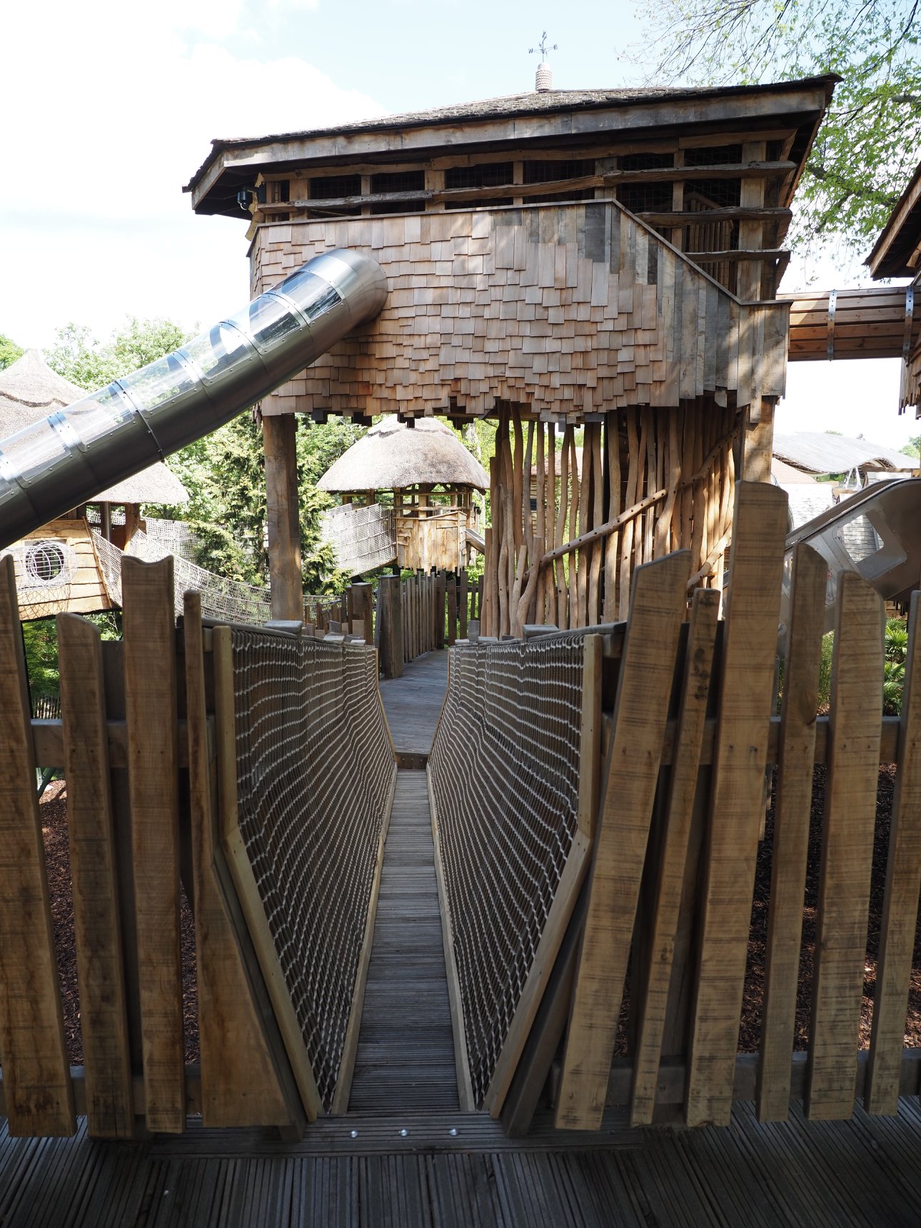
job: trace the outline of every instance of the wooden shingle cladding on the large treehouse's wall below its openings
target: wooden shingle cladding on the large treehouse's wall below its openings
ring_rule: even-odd
[[[782,395],[788,303],[743,303],[616,201],[259,228],[254,290],[334,247],[367,251],[388,302],[264,413],[546,419],[712,395]]]

